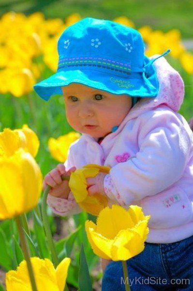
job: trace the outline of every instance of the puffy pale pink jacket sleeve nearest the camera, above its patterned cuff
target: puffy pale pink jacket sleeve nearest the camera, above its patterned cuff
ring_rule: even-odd
[[[138,152],[110,170],[126,205],[162,192],[182,176],[191,148],[187,128],[183,118],[170,110],[152,111],[143,116]]]

